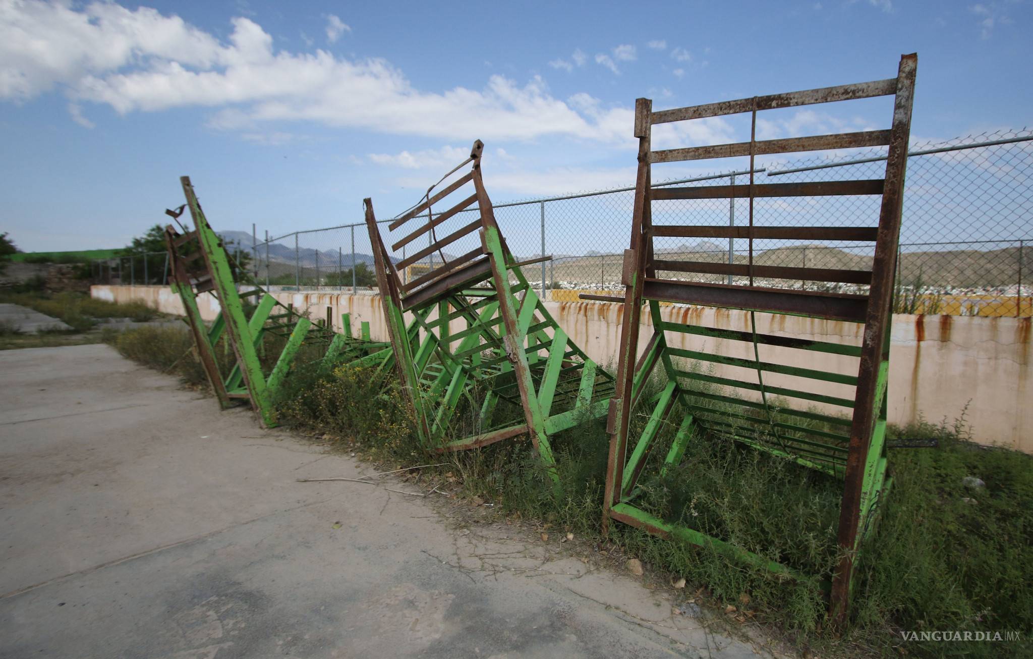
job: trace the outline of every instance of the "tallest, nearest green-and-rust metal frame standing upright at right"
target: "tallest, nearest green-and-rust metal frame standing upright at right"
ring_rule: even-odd
[[[603,525],[615,520],[657,535],[677,536],[710,546],[772,571],[792,573],[787,566],[748,553],[721,538],[650,514],[636,506],[638,483],[647,475],[647,469],[653,470],[649,475],[655,475],[679,465],[692,437],[698,437],[699,441],[706,441],[707,437],[730,438],[838,476],[843,479],[838,541],[844,556],[832,575],[831,600],[834,618],[839,621],[845,618],[849,604],[856,553],[864,536],[874,527],[871,520],[888,487],[885,430],[890,303],[916,63],[915,55],[903,56],[896,79],[872,83],[660,112],[654,112],[652,101],[646,98],[639,98],[635,104],[638,172],[631,244],[624,255],[625,314],[617,393],[611,402],[607,419],[611,446]],[[895,98],[888,130],[756,139],[759,112],[875,96]],[[751,119],[750,142],[665,150],[652,147],[653,126],[657,124],[745,113]],[[757,155],[875,146],[888,147],[884,179],[764,185],[753,181],[753,161]],[[737,156],[750,158],[749,184],[651,187],[654,164]],[[877,226],[870,225],[875,217],[829,218],[835,222],[822,226],[754,223],[756,199],[828,195],[881,197]],[[750,209],[749,224],[729,226],[724,221],[727,216],[722,216],[720,224],[713,225],[653,223],[654,201],[691,202],[697,199],[746,199]],[[843,225],[836,226],[837,222]],[[733,262],[730,257],[727,263],[671,260],[670,255],[654,250],[654,241],[664,237],[745,239],[749,242],[749,260],[746,263]],[[874,253],[870,271],[764,265],[754,263],[755,240],[867,244],[874,245]],[[662,273],[667,275],[661,276]],[[707,273],[727,279],[723,283],[687,281],[685,273]],[[740,281],[735,282],[734,278]],[[763,278],[765,282],[783,280],[783,283],[755,285],[755,278]],[[802,281],[848,283],[862,290],[867,287],[867,292],[796,288]],[[671,322],[661,314],[661,303],[745,310],[749,312],[750,325],[746,331],[730,331],[693,321]],[[654,334],[637,358],[644,306],[648,309]],[[757,312],[860,323],[863,342],[852,345],[808,341],[775,333],[759,334]],[[707,347],[687,350],[670,345],[681,343],[686,336],[703,338]],[[679,339],[676,341],[675,337]],[[721,347],[715,348],[715,345]],[[804,354],[799,352],[801,350],[848,355],[856,357],[857,362],[851,363],[855,366],[850,367],[850,373],[807,369],[799,366],[792,356]],[[729,353],[749,356],[729,356]],[[665,375],[666,384],[654,398],[655,403],[653,400],[639,401],[647,380],[658,366]],[[715,369],[721,369],[723,374],[734,372],[737,377],[714,375]],[[774,378],[785,381],[782,376],[790,376],[792,384],[772,386],[770,381],[765,382]],[[829,383],[846,385],[852,394],[831,396]],[[652,405],[652,409],[639,412],[648,415],[649,420],[640,434],[632,437],[629,422],[636,404]],[[814,404],[849,410],[849,417],[814,411]],[[676,409],[681,410],[683,416],[668,421]],[[659,453],[650,460],[658,431],[666,422],[677,428],[677,432],[662,460]]]

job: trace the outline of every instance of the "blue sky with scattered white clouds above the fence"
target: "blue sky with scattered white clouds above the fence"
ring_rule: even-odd
[[[497,202],[628,185],[638,96],[663,108],[880,80],[911,52],[914,140],[1020,128],[1033,123],[1030,13],[1021,1],[0,0],[0,231],[25,250],[122,246],[182,203],[181,175],[220,229],[358,221],[365,196],[387,217],[478,137]],[[888,107],[777,111],[760,136],[887,127]],[[731,119],[665,138],[748,137]]]

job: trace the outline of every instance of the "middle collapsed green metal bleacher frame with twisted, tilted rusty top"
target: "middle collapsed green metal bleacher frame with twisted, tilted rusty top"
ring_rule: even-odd
[[[388,229],[396,231],[417,217],[426,218],[396,240],[392,250],[424,236],[430,244],[400,260],[392,258],[373,202],[365,199],[377,284],[399,376],[424,446],[459,450],[530,435],[555,480],[550,437],[605,414],[614,378],[569,340],[528,284],[521,265],[544,257],[520,263],[506,246],[481,180],[482,152],[483,144],[477,140],[470,157],[432,186],[422,202],[390,222]],[[434,193],[468,164],[468,171]],[[460,200],[433,213],[435,205],[444,205],[470,185],[471,192],[456,195],[452,199]],[[462,225],[438,240],[437,231],[447,230],[449,220]],[[435,255],[440,256],[437,262]],[[400,272],[424,262],[430,263],[428,272],[403,281]],[[412,315],[418,341],[409,340],[413,325],[406,325],[406,314]],[[461,403],[470,405],[469,415],[475,417],[468,429],[452,426]],[[523,418],[498,418],[500,403],[522,410]]]

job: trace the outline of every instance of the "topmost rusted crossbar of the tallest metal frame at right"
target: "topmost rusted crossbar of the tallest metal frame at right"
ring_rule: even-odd
[[[674,109],[663,109],[653,113],[649,121],[651,124],[664,124],[672,121],[686,121],[688,119],[702,119],[705,117],[720,117],[722,115],[738,115],[740,113],[756,109],[775,109],[777,107],[795,107],[799,105],[811,105],[814,103],[828,103],[839,100],[852,100],[856,98],[871,98],[873,96],[889,96],[897,93],[897,79],[884,81],[873,81],[871,83],[858,83],[855,85],[838,85],[836,87],[822,87],[820,89],[810,89],[802,92],[789,92],[786,94],[771,94],[768,96],[757,96],[754,98],[740,98],[737,100],[726,100],[717,103],[706,103],[691,107],[676,107]],[[756,103],[756,105],[754,105]],[[635,136],[639,136],[635,133]]]

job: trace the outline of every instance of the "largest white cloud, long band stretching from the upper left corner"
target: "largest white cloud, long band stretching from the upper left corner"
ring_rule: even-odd
[[[0,7],[0,100],[60,87],[75,106],[106,104],[123,115],[210,107],[211,126],[255,134],[268,122],[307,121],[445,139],[629,140],[630,108],[578,109],[538,77],[521,85],[492,75],[479,90],[431,92],[382,59],[275,52],[272,36],[244,18],[231,21],[223,41],[148,7],[34,0]],[[578,53],[574,62],[584,59]]]

